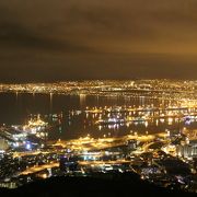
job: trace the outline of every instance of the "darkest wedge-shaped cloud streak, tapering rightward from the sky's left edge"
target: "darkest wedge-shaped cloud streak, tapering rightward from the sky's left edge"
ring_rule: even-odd
[[[58,40],[57,38],[47,37],[39,33],[30,31],[25,26],[16,23],[1,23],[0,24],[0,45],[1,48],[24,48],[37,50],[60,50],[65,53],[91,53],[88,46],[82,46],[70,40]]]

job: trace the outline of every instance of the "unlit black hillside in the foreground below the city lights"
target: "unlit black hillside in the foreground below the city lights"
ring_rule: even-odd
[[[193,197],[178,190],[170,190],[150,185],[137,176],[124,174],[113,178],[92,177],[53,177],[25,185],[14,190],[2,189],[0,196],[34,196],[34,197],[102,197],[102,196],[185,196]]]

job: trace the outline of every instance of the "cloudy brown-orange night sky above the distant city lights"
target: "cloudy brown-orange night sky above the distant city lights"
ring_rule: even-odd
[[[1,0],[0,81],[197,79],[196,0]]]

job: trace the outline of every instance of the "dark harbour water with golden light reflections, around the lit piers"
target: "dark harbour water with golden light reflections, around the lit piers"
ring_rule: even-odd
[[[177,118],[153,119],[143,123],[125,123],[114,125],[95,125],[95,119],[103,118],[101,114],[88,114],[88,107],[109,107],[109,106],[167,106],[176,104],[176,101],[165,101],[157,99],[125,97],[125,96],[96,96],[96,95],[57,95],[57,94],[0,94],[0,124],[24,124],[31,114],[47,115],[53,119],[53,114],[61,114],[58,125],[50,130],[50,139],[79,138],[90,134],[92,137],[124,136],[130,132],[153,134],[165,129],[196,129],[197,124],[182,121]],[[77,114],[72,114],[77,111]],[[125,117],[129,114],[118,114]],[[131,114],[130,114],[131,115]],[[46,116],[45,116],[46,117]]]

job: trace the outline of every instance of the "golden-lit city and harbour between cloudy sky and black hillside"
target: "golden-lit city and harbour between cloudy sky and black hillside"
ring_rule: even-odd
[[[196,84],[170,80],[1,84],[0,100],[13,97],[16,109],[28,100],[35,107],[42,96],[47,107],[42,103],[45,112],[32,113],[33,103],[21,105],[30,107],[25,115],[18,114],[22,121],[1,124],[0,186],[130,172],[160,187],[196,193]]]

